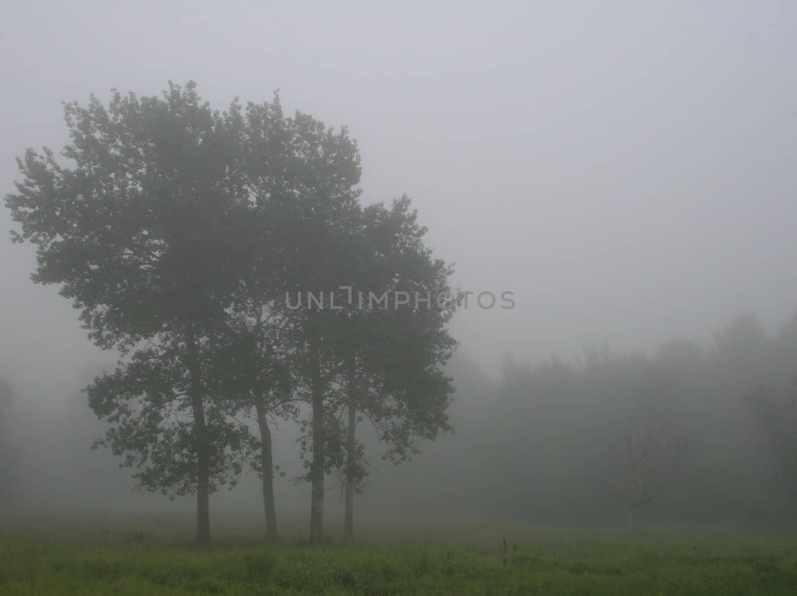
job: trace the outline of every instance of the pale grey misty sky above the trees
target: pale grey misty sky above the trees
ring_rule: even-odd
[[[710,338],[797,308],[797,3],[4,2],[0,191],[65,144],[61,100],[196,80],[347,124],[363,200],[410,194],[491,368],[604,339]],[[5,207],[0,230],[11,227]],[[65,394],[92,347],[0,238],[0,374]]]

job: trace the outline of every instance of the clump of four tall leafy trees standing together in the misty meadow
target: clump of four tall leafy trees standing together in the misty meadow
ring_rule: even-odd
[[[86,388],[109,422],[95,447],[122,457],[139,488],[196,495],[203,543],[210,495],[256,470],[273,540],[270,429],[295,419],[310,543],[324,541],[328,477],[345,486],[351,541],[370,466],[359,423],[395,463],[451,430],[442,367],[459,299],[410,200],[363,206],[347,129],[285,116],[276,94],[218,112],[194,83],[170,82],[163,97],[67,103],[65,120],[62,159],[26,151],[6,206],[13,239],[36,246],[33,280],[60,285],[89,338],[120,354]],[[362,308],[359,292],[447,298]],[[289,293],[316,300],[292,308]]]

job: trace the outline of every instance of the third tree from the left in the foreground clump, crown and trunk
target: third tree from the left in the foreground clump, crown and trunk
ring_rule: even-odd
[[[345,127],[335,131],[300,112],[286,117],[278,97],[249,104],[245,122],[246,186],[253,221],[267,238],[256,253],[264,259],[258,279],[267,283],[255,300],[277,321],[277,351],[288,369],[283,366],[281,375],[291,378],[293,398],[308,405],[310,542],[320,544],[329,404],[336,400],[333,380],[341,367],[335,349],[337,311],[324,303],[329,306],[332,292],[341,304],[339,286],[354,275],[362,227],[359,152]],[[289,295],[293,301],[296,296],[316,301],[294,309]],[[277,388],[265,406],[288,401]]]

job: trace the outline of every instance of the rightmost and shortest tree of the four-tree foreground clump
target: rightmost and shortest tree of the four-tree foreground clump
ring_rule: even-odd
[[[419,453],[418,438],[434,440],[452,430],[447,410],[453,385],[442,367],[456,346],[446,326],[459,301],[448,285],[453,269],[432,257],[423,241],[426,228],[418,225],[406,195],[389,209],[368,206],[363,215],[359,279],[337,335],[347,414],[341,458],[347,543],[354,539],[355,492],[362,491],[369,469],[357,423],[373,425],[385,446],[383,460],[394,464]],[[377,307],[373,295],[387,296],[387,303]]]

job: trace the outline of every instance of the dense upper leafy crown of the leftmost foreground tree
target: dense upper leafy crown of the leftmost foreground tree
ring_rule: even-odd
[[[188,313],[205,319],[238,283],[245,190],[236,117],[211,112],[194,84],[164,99],[115,92],[108,108],[65,104],[72,143],[27,151],[6,197],[17,240],[37,245],[34,280],[63,284],[91,338],[127,348]],[[244,234],[245,238],[245,234]]]

